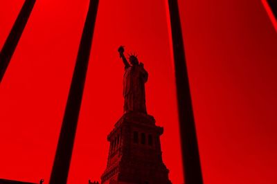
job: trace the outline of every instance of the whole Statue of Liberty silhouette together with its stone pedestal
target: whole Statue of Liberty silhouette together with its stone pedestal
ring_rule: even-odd
[[[127,98],[124,96],[125,113],[107,136],[110,142],[109,156],[107,168],[101,176],[101,183],[170,184],[169,170],[164,165],[161,156],[160,136],[163,134],[163,127],[156,126],[154,117],[146,113],[145,91],[142,83],[147,81],[145,77],[147,72],[143,64],[139,64],[136,56],[131,55],[129,58],[131,65],[126,64],[123,47],[120,47],[118,51],[125,64],[123,95],[126,93],[132,93],[132,95],[128,94]],[[131,59],[136,59],[136,61]],[[127,80],[130,80],[128,84],[126,84]],[[125,89],[126,85],[129,85],[128,91]],[[137,95],[142,97],[138,98]],[[130,103],[135,104],[131,106]],[[126,104],[128,108],[135,108],[131,109],[132,111],[126,111]]]

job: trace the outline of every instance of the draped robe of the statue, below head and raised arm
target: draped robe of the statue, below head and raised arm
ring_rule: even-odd
[[[125,67],[123,77],[124,112],[146,113],[145,82],[148,80],[148,72],[142,65]]]

